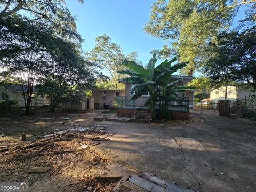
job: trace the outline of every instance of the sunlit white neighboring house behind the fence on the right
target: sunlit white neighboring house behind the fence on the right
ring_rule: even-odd
[[[252,95],[256,95],[250,85],[229,85],[227,87],[227,100],[234,101],[240,99],[249,99]],[[225,86],[211,91],[210,100],[218,102],[225,99]]]

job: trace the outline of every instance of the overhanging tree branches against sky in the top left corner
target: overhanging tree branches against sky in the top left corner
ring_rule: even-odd
[[[78,0],[83,3],[83,0]],[[38,21],[41,27],[53,27],[52,33],[81,42],[76,32],[75,17],[63,0],[1,0],[0,18],[13,15],[28,17],[29,21]]]

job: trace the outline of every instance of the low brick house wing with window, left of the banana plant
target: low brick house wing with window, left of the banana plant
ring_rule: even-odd
[[[103,92],[106,93],[106,98],[103,98]],[[93,90],[92,98],[94,98],[95,109],[103,109],[104,105],[109,105],[110,109],[114,109],[113,98],[116,98],[116,92],[119,92],[119,96],[125,96],[125,90]]]

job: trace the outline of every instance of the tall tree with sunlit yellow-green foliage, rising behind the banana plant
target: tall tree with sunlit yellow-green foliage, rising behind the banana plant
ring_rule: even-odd
[[[189,61],[181,72],[192,76],[202,66],[201,52],[205,43],[230,25],[235,12],[226,3],[219,0],[158,0],[151,7],[150,21],[144,30],[169,41],[172,48],[164,47],[164,57],[170,58],[173,53],[179,55],[180,61]]]

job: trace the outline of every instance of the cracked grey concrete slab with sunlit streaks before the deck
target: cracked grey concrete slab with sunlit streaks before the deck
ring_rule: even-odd
[[[205,111],[204,123],[105,122],[93,146],[115,161],[197,191],[255,191],[256,124]]]

